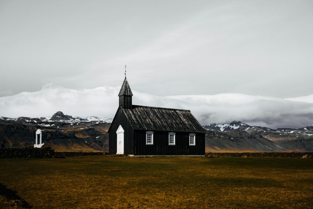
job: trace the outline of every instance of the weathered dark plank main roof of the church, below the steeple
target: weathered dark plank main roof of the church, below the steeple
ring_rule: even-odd
[[[190,110],[139,105],[122,110],[135,130],[205,133]]]

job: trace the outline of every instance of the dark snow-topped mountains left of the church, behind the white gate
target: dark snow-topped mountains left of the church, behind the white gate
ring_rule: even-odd
[[[33,146],[35,131],[55,151],[108,151],[108,129],[112,118],[89,116],[72,117],[56,112],[52,117],[0,117],[0,140],[6,147]]]

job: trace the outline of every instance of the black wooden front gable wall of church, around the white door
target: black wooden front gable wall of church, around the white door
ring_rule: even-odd
[[[116,113],[109,129],[109,154],[116,154],[116,131],[120,125],[124,129],[124,154],[134,154],[134,131],[126,118],[125,113],[122,111],[122,108],[120,107],[117,111],[118,112]]]

